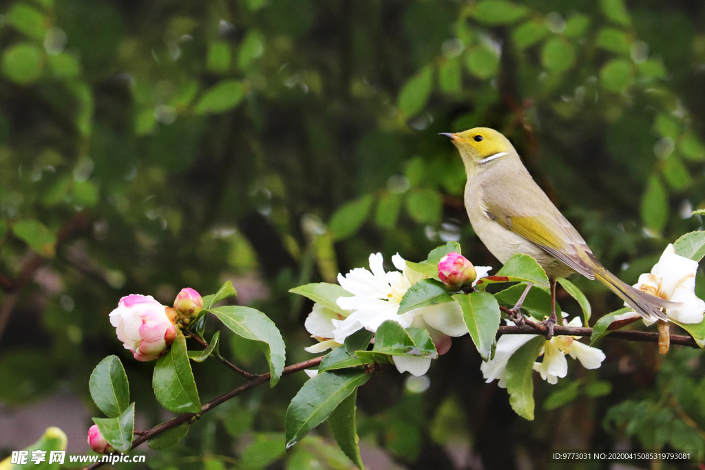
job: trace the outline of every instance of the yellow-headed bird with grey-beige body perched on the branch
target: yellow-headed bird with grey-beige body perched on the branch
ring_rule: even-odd
[[[527,254],[546,271],[551,287],[551,316],[544,322],[551,338],[556,324],[556,280],[580,273],[599,280],[644,319],[667,321],[668,302],[624,283],[602,266],[590,247],[548,199],[522,163],[512,143],[491,128],[442,132],[450,137],[465,165],[465,209],[472,228],[494,256],[505,264],[517,253]],[[532,283],[511,309],[515,321]]]

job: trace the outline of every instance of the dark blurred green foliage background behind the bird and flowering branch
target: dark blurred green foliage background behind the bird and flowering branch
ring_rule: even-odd
[[[55,390],[90,407],[90,371],[118,354],[138,414],[161,421],[151,366],[122,350],[107,319],[130,293],[170,303],[181,287],[233,280],[238,302],[276,322],[293,363],[310,357],[310,304],[290,287],[335,282],[371,252],[420,261],[447,240],[498,268],[438,132],[504,132],[629,283],[702,225],[690,216],[705,190],[701,2],[20,0],[0,13],[5,407]],[[620,307],[597,283],[575,283],[594,319]],[[697,288],[702,297],[701,276]],[[360,389],[363,447],[409,469],[541,468],[547,449],[627,443],[705,457],[701,352],[601,347],[599,371],[537,385],[529,423],[483,383],[470,339],[455,340],[428,390],[396,373]],[[266,370],[231,335],[221,352]],[[202,397],[238,383],[215,361],[194,369]],[[283,414],[304,380],[204,416],[149,466],[348,465],[325,428],[280,460]]]

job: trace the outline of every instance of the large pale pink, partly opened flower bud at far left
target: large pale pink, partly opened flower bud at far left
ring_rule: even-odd
[[[151,295],[133,294],[120,299],[110,313],[110,324],[137,361],[152,361],[176,338],[175,313]]]

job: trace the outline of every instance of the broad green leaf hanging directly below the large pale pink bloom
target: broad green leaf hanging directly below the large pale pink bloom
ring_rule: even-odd
[[[154,395],[162,407],[175,413],[201,411],[196,381],[186,352],[186,339],[178,333],[169,350],[157,359],[152,376]]]

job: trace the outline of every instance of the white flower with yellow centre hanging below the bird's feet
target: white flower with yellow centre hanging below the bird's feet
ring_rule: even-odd
[[[567,314],[563,314],[565,317]],[[536,319],[532,319],[537,321]],[[572,319],[565,326],[582,326],[579,317]],[[497,341],[497,350],[494,359],[483,362],[480,365],[482,376],[486,383],[499,380],[501,388],[507,388],[507,361],[517,350],[530,340],[536,338],[534,335],[502,335]],[[565,355],[568,354],[573,359],[580,361],[585,369],[597,369],[605,360],[605,354],[596,347],[583,344],[579,336],[554,336],[546,340],[544,347],[539,352],[539,357],[543,356],[541,362],[534,363],[534,371],[541,374],[541,378],[548,383],[557,383],[558,378],[563,378],[568,374],[568,361]]]

